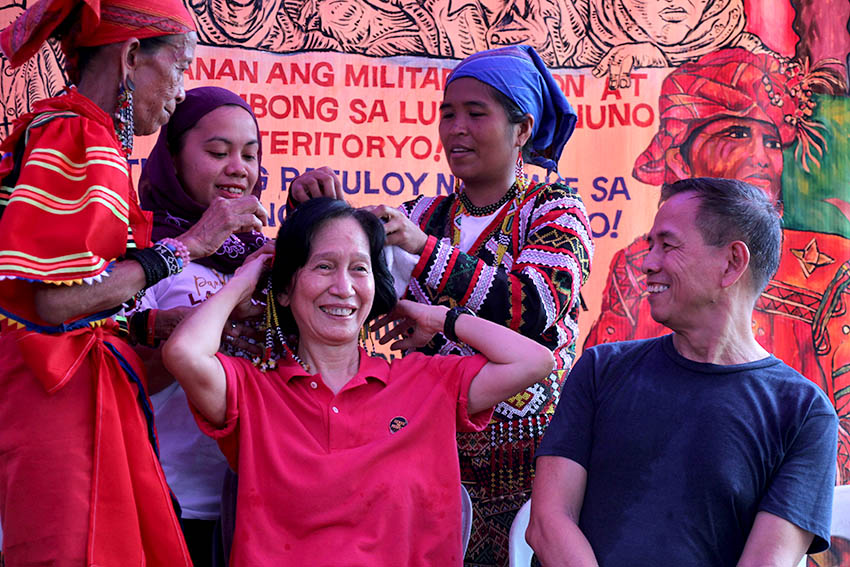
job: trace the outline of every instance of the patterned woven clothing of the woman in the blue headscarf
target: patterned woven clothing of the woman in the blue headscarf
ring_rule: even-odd
[[[510,522],[530,495],[534,449],[575,358],[579,289],[590,273],[593,242],[584,204],[564,185],[530,187],[503,208],[469,253],[451,244],[457,202],[455,195],[420,197],[403,206],[431,235],[408,296],[420,303],[465,305],[531,337],[553,350],[558,369],[496,406],[483,432],[458,435],[461,478],[475,510],[468,563],[502,565]],[[442,335],[422,351],[471,353]]]

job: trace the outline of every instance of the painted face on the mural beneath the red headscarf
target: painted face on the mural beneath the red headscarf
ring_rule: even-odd
[[[746,181],[774,201],[782,195],[782,143],[769,122],[724,117],[703,126],[685,150],[694,177]]]

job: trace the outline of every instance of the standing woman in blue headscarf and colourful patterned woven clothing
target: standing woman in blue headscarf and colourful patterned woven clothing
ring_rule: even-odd
[[[575,357],[579,290],[593,254],[578,193],[530,181],[523,164],[557,171],[576,114],[529,46],[464,59],[440,109],[455,193],[373,212],[385,221],[387,242],[407,252],[393,262],[397,279],[410,274],[408,297],[501,323],[555,354],[556,370],[499,404],[487,429],[458,435],[475,508],[467,561],[506,564],[508,528],[530,496],[534,450]],[[473,352],[441,334],[420,350]]]

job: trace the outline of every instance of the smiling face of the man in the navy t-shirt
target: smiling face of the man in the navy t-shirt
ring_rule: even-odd
[[[652,318],[674,331],[702,325],[722,290],[725,248],[710,246],[694,222],[699,199],[693,192],[666,200],[647,235],[643,262]]]

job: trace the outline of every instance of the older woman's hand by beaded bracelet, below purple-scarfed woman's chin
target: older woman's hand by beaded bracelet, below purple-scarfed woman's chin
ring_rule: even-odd
[[[195,225],[178,238],[193,259],[205,258],[218,250],[234,232],[259,231],[268,214],[253,195],[238,199],[217,197]]]

